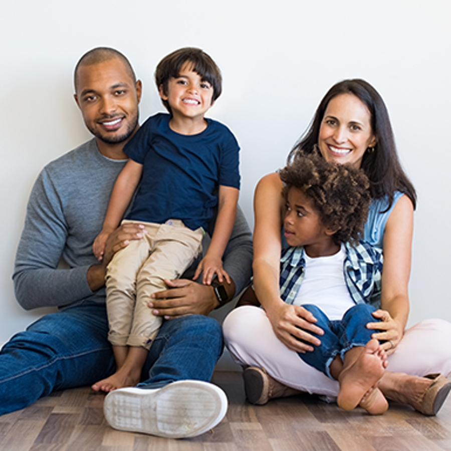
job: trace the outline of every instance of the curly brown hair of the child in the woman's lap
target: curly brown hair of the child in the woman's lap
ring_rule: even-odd
[[[337,230],[332,237],[336,244],[362,238],[371,192],[368,177],[361,169],[328,163],[317,153],[298,153],[279,175],[285,183],[285,196],[290,188],[300,189],[311,199],[322,224]]]

